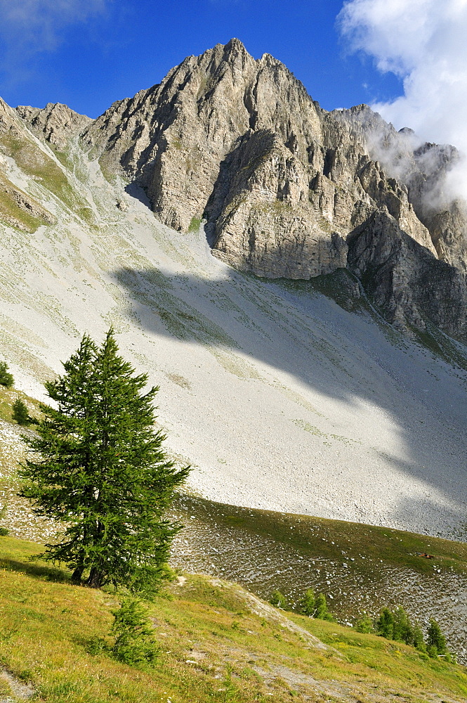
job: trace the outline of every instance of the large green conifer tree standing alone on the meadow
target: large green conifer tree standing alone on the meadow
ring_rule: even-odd
[[[41,406],[20,470],[34,512],[65,526],[44,557],[72,568],[74,583],[148,595],[166,576],[180,526],[164,512],[189,467],[176,470],[164,453],[166,437],[154,430],[158,388],[142,393],[147,375],[133,375],[112,328],[100,347],[85,335],[63,366],[46,383],[57,409]]]

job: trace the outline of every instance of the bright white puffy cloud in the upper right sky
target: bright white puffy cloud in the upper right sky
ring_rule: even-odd
[[[403,79],[403,96],[371,107],[397,129],[467,154],[467,0],[349,0],[338,24],[353,51]]]

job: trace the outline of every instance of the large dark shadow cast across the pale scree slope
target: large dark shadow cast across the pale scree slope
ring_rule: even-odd
[[[459,525],[467,496],[467,373],[311,286],[227,268],[220,276],[114,271],[151,333],[241,350],[350,406],[362,400],[383,408],[407,453],[393,464],[457,503],[446,517]]]

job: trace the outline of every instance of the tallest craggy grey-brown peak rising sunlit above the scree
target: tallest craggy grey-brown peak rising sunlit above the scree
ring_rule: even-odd
[[[82,141],[138,181],[165,224],[204,216],[213,254],[258,276],[346,266],[348,233],[382,205],[435,254],[407,188],[282,63],[237,39],[115,103]]]

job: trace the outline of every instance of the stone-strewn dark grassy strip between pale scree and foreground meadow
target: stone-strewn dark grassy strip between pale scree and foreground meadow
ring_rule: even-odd
[[[11,415],[15,391],[0,391],[0,411]],[[25,397],[25,396],[23,396]],[[29,412],[34,404],[29,404]],[[38,520],[18,498],[16,467],[25,450],[18,425],[0,422],[0,524],[12,536],[47,541],[56,527]],[[423,628],[435,617],[449,646],[466,663],[467,545],[385,527],[306,515],[238,508],[178,496],[171,517],[185,525],[173,566],[242,584],[268,600],[276,588],[291,605],[307,588],[325,593],[339,621],[355,624],[364,612],[403,605]],[[430,553],[426,559],[419,553]]]

